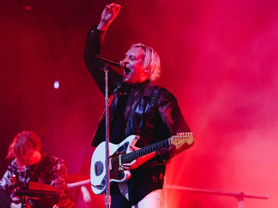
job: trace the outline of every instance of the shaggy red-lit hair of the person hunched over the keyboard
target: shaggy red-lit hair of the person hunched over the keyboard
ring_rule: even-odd
[[[7,158],[16,158],[22,162],[22,156],[29,156],[32,150],[43,147],[38,135],[33,131],[22,131],[16,135],[12,144],[9,146]]]

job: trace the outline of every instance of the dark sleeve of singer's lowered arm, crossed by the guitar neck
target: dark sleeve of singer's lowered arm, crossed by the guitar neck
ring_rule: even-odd
[[[178,106],[177,99],[172,93],[170,93],[165,88],[162,88],[159,92],[157,102],[158,111],[165,127],[167,128],[168,136],[173,136],[180,132],[190,132],[190,129],[185,122],[182,112]],[[170,146],[157,150],[156,152],[158,159],[160,161],[167,161],[185,149],[190,148],[194,144],[194,141],[190,145],[185,143],[178,149],[175,145],[170,144]]]

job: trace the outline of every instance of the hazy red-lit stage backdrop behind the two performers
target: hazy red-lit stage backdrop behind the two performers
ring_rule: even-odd
[[[83,49],[108,3],[1,1],[1,174],[22,130],[36,132],[47,154],[78,173],[104,109]],[[177,97],[196,138],[167,166],[167,184],[269,194],[245,198],[244,206],[277,207],[277,1],[116,3],[121,11],[102,55],[123,60],[132,43],[153,47],[162,65],[158,84]],[[233,197],[172,189],[164,200],[173,208],[237,207]]]

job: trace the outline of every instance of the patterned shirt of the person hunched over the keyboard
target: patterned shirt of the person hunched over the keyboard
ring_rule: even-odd
[[[45,153],[42,153],[42,158],[38,163],[31,166],[19,168],[16,159],[14,159],[0,181],[0,204],[2,207],[10,207],[11,197],[13,197],[15,191],[10,177],[14,174],[17,181],[22,181],[24,184],[34,181],[58,187],[60,194],[59,203],[56,205],[59,208],[74,208],[75,204],[65,181],[66,172],[66,164],[62,159],[47,156]],[[39,201],[34,202],[34,204],[40,205]]]

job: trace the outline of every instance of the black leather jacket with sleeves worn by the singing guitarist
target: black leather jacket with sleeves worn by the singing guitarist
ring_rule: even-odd
[[[105,31],[92,27],[88,34],[84,61],[100,88],[105,94],[103,63],[94,59],[100,54]],[[135,146],[142,148],[163,141],[177,132],[190,132],[185,122],[176,98],[165,88],[150,80],[135,87],[122,82],[123,76],[113,71],[108,72],[109,96],[109,141],[119,144],[130,135],[139,135]],[[105,141],[105,114],[101,116],[98,128],[92,141],[92,146],[98,146]],[[128,197],[132,205],[141,201],[148,193],[162,189],[165,175],[165,164],[176,154],[189,148],[176,149],[174,145],[160,149],[157,156],[131,170],[128,181]],[[110,191],[114,189],[111,188]]]

